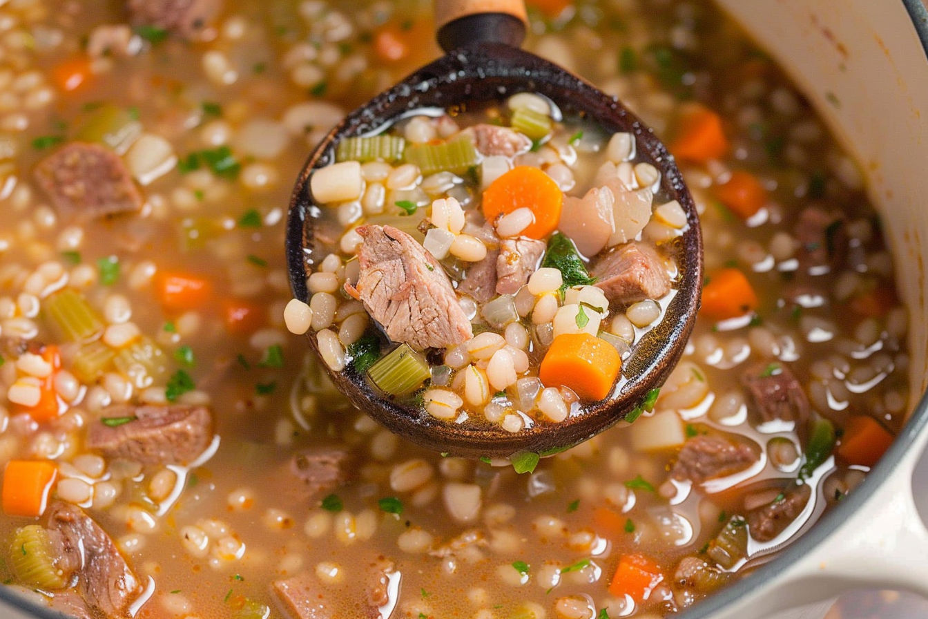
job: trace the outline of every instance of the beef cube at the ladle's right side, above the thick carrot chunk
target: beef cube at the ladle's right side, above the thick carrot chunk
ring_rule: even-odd
[[[670,291],[670,276],[657,251],[636,241],[600,258],[590,275],[609,302],[619,305],[660,299]]]

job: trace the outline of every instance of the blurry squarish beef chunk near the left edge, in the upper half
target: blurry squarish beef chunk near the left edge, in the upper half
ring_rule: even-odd
[[[71,142],[39,162],[35,180],[63,215],[92,218],[142,208],[125,163],[99,144]]]

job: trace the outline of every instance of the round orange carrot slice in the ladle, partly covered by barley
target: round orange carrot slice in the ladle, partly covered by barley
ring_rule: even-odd
[[[532,239],[544,239],[561,221],[564,194],[554,180],[538,168],[519,165],[497,178],[483,191],[483,216],[495,224],[499,215],[528,208],[535,222],[522,230]]]

